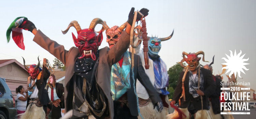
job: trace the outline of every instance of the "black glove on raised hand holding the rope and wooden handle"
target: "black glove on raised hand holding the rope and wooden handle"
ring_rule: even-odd
[[[148,15],[148,11],[149,11],[149,10],[147,10],[146,8],[142,8],[142,9],[140,10],[141,14],[143,14],[145,17]],[[128,22],[130,25],[132,25],[133,17],[134,17],[134,7],[131,8],[131,11],[130,11],[130,13],[129,13],[128,20],[127,20],[127,22]],[[137,14],[137,19],[136,19],[136,21],[139,21],[139,20],[141,19],[141,17],[142,17],[142,16],[138,13],[138,14]]]

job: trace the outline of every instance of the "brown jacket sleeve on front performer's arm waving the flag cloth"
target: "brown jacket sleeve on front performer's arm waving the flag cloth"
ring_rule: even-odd
[[[47,50],[49,53],[58,58],[64,65],[66,65],[68,51],[64,49],[64,46],[59,45],[54,40],[51,40],[40,30],[38,30],[35,34],[33,41],[35,41],[35,43]]]

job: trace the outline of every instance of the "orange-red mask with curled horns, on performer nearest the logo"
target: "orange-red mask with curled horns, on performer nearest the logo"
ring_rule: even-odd
[[[199,65],[199,61],[201,59],[201,57],[198,57],[199,54],[203,55],[203,62],[208,62],[204,60],[204,52],[203,51],[198,51],[197,53],[186,53],[186,52],[182,52],[182,60],[180,62],[180,65],[182,67],[185,67],[182,63],[185,61],[188,64],[188,68],[190,71],[195,71],[200,65]],[[185,57],[185,55],[187,56],[187,58]]]

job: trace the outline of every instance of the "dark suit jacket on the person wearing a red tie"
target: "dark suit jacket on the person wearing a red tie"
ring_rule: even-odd
[[[63,92],[64,92],[64,86],[62,83],[56,83],[55,84],[55,87],[56,87],[56,94],[58,96],[58,98],[60,99],[60,106],[61,108],[64,108],[64,96],[63,96]],[[49,89],[49,86],[47,85],[47,92],[48,92],[48,89]],[[49,97],[49,96],[48,96]],[[51,100],[51,99],[50,99]]]

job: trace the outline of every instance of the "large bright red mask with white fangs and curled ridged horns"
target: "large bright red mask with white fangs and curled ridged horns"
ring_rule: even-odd
[[[102,24],[99,35],[94,31],[97,24]],[[77,31],[77,38],[73,33],[72,37],[75,46],[79,49],[81,54],[79,58],[92,58],[95,61],[97,50],[103,39],[102,32],[104,31],[104,26],[105,24],[100,18],[93,19],[88,29],[81,29],[77,21],[71,21],[68,28],[62,31],[62,33],[66,34],[70,27],[74,27]]]

